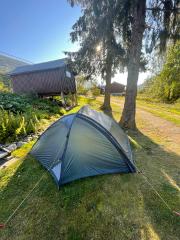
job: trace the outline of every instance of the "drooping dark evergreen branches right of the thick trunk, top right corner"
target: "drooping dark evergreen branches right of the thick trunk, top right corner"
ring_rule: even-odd
[[[158,47],[162,53],[169,39],[173,42],[179,39],[179,0],[149,0],[146,5],[146,23],[151,27],[145,31],[145,48],[152,52]]]

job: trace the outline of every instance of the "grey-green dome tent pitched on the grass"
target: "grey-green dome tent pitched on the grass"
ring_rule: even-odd
[[[88,106],[52,124],[30,154],[58,186],[88,176],[136,172],[127,135],[112,118]]]

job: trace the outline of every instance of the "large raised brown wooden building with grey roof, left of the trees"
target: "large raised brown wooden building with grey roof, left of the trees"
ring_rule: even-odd
[[[75,77],[65,58],[17,67],[10,76],[14,93],[40,96],[76,93]]]

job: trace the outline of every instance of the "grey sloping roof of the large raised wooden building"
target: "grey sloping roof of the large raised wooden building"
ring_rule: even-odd
[[[49,62],[43,62],[38,64],[29,64],[17,67],[15,70],[10,72],[10,75],[17,75],[21,73],[29,73],[29,72],[37,72],[37,71],[43,71],[43,70],[50,70],[50,69],[56,69],[60,67],[64,67],[67,64],[67,58],[58,59],[54,61]]]

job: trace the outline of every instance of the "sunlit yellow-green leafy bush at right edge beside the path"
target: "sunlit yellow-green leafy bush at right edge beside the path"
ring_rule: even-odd
[[[164,102],[180,98],[180,41],[169,49],[162,71],[147,80],[142,92]]]

